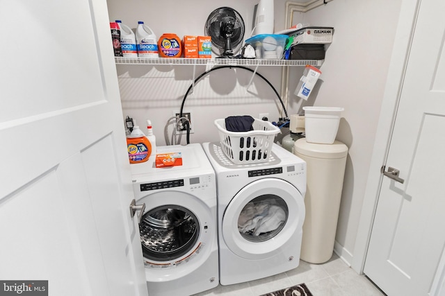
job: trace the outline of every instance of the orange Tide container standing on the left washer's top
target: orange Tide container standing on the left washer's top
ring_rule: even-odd
[[[131,134],[127,136],[127,150],[130,164],[147,162],[152,154],[152,144],[138,125],[134,125]]]

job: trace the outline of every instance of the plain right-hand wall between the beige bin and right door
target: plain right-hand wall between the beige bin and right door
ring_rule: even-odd
[[[349,147],[335,249],[351,262],[365,194],[387,67],[401,0],[334,0],[302,21],[333,26],[316,97],[310,104],[344,107],[337,139]],[[304,104],[303,104],[304,105]]]

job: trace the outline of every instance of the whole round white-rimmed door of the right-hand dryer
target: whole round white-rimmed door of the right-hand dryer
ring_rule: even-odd
[[[254,181],[236,193],[223,216],[223,239],[232,252],[245,259],[261,259],[302,232],[303,197],[281,179]]]

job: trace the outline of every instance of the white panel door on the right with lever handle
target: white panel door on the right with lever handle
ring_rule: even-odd
[[[428,295],[445,245],[445,1],[419,1],[364,273],[387,295]]]

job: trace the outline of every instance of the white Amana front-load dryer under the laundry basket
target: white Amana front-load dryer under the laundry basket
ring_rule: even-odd
[[[296,268],[305,220],[306,162],[273,144],[268,162],[238,165],[203,143],[216,173],[220,284]]]

